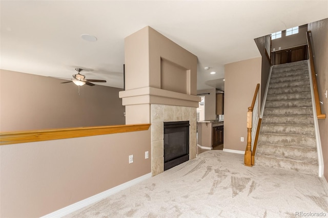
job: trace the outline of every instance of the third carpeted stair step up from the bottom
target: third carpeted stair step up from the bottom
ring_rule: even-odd
[[[316,138],[308,135],[261,133],[258,138],[258,143],[307,147],[316,145]]]

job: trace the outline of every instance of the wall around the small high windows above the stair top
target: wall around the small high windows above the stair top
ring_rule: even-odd
[[[275,48],[276,51],[288,49],[296,46],[301,46],[306,44],[306,31],[308,31],[308,25],[303,25],[298,28],[298,33],[294,35],[286,36],[286,31],[283,30],[281,38],[272,40],[271,51]]]

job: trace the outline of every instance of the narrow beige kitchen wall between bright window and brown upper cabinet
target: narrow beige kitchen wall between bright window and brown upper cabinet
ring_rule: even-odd
[[[205,120],[216,120],[216,89],[197,90],[197,95],[205,97]]]

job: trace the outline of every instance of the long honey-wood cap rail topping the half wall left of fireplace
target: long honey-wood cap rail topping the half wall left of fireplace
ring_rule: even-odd
[[[0,132],[0,145],[136,132],[147,130],[149,126],[150,124],[132,124]]]

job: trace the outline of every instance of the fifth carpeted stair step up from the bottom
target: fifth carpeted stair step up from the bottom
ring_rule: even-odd
[[[314,125],[314,118],[313,116],[304,116],[304,115],[265,115],[262,118],[262,124],[310,124]]]

